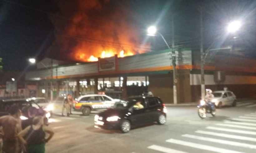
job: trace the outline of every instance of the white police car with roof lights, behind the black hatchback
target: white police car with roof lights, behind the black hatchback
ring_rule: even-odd
[[[76,99],[74,109],[81,111],[83,115],[89,115],[92,110],[111,108],[120,101],[107,95],[83,95]]]

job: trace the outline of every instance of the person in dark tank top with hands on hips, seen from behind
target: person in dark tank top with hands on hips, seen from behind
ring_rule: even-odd
[[[46,133],[49,137],[46,138]],[[33,118],[31,126],[28,126],[21,132],[18,137],[22,144],[27,145],[28,153],[45,153],[45,143],[47,143],[54,135],[52,129],[44,125],[42,116]],[[25,139],[23,138],[25,137]]]

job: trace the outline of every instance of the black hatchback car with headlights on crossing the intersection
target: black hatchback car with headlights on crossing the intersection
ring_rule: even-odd
[[[116,103],[114,108],[95,115],[95,128],[120,129],[129,132],[131,127],[157,122],[165,124],[167,109],[159,97],[137,96],[126,102]]]

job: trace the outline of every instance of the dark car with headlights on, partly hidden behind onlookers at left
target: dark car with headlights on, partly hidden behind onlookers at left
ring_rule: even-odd
[[[32,115],[31,110],[36,115],[44,116],[44,123],[48,124],[48,119],[50,118],[51,114],[43,110],[39,105],[34,103],[34,101],[30,101],[28,99],[8,99],[8,100],[1,100],[0,101],[0,116],[8,115],[8,109],[13,105],[16,104],[19,106],[20,110],[22,111],[22,116],[20,117],[22,120],[22,129],[26,128],[27,126],[32,124],[32,120],[34,115]],[[36,104],[36,107],[32,105]]]

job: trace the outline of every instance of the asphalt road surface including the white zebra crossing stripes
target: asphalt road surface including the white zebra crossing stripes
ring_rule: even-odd
[[[256,101],[217,109],[212,117],[197,115],[196,106],[168,107],[165,125],[151,124],[129,133],[94,128],[94,114],[56,114],[55,135],[47,153],[255,153]]]

